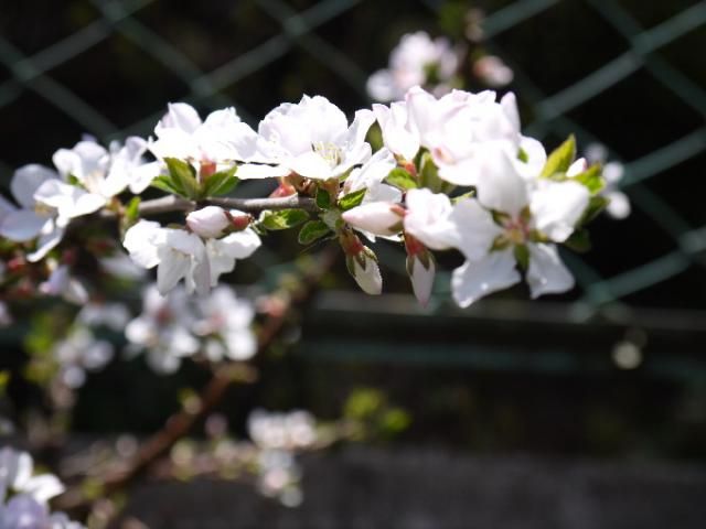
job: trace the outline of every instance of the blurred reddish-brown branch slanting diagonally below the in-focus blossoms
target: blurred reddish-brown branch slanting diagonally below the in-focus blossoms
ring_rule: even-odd
[[[321,278],[331,269],[339,252],[336,248],[330,247],[309,263],[309,269],[302,273],[301,281],[289,291],[286,304],[282,310],[270,314],[258,333],[258,354],[267,350],[277,339],[279,333],[285,327],[292,311],[304,304],[317,291]],[[107,496],[129,485],[140,477],[156,461],[167,455],[172,446],[194,425],[204,419],[225,396],[226,390],[237,379],[238,374],[243,374],[243,365],[225,364],[215,369],[211,380],[200,393],[200,406],[195,409],[182,409],[170,417],[162,430],[152,435],[138,450],[136,456],[122,468],[119,468],[101,481],[100,490]],[[82,492],[81,486],[72,488],[57,498],[56,506],[73,514],[86,514],[92,500]]]

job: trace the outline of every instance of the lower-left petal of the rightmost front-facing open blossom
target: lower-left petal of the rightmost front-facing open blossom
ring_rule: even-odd
[[[478,261],[466,261],[453,270],[451,289],[459,306],[466,307],[491,292],[520,281],[512,249],[492,251]]]

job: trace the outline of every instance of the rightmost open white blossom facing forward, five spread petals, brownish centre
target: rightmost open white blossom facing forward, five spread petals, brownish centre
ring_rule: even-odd
[[[454,206],[459,213],[453,219],[462,235],[458,248],[468,259],[453,272],[456,301],[468,306],[482,295],[518,282],[517,246],[528,252],[526,277],[533,298],[570,289],[574,278],[553,242],[564,242],[571,235],[588,198],[588,190],[576,182],[527,182],[510,160],[496,175],[481,175],[478,204],[466,198]],[[489,210],[499,215],[498,223]],[[473,227],[468,218],[474,218]]]

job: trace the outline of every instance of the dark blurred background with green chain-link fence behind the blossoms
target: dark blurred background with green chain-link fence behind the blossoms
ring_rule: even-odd
[[[553,149],[575,133],[579,152],[599,143],[622,164],[630,215],[601,216],[590,251],[563,253],[577,279],[566,295],[531,303],[518,287],[461,311],[447,273],[420,309],[395,248],[376,248],[389,293],[381,299],[357,293],[339,263],[286,339],[257,360],[258,380],[234,388],[220,411],[238,434],[255,407],[333,420],[394,402],[399,413],[381,421],[365,450],[311,456],[303,514],[236,487],[193,500],[192,518],[149,527],[665,527],[667,517],[703,527],[706,2],[0,0],[0,8],[3,193],[15,168],[50,164],[84,133],[149,136],[168,101],[202,115],[233,105],[256,126],[279,102],[319,94],[352,115],[370,106],[367,78],[387,66],[403,34],[468,42],[479,23],[472,45],[513,71],[500,91],[516,93],[526,134]],[[264,186],[238,193],[261,195]],[[300,250],[279,240],[264,245],[238,282],[266,288],[287,270]],[[17,314],[0,331],[2,367],[23,364],[32,324]],[[72,432],[148,434],[184,387],[203,381],[193,366],[158,377],[116,363],[81,389]],[[14,382],[10,396],[17,417],[41,407],[31,385]],[[429,478],[438,492],[422,494]],[[190,497],[170,486],[148,484],[142,499],[136,495],[142,519],[164,520],[149,512]],[[414,510],[407,501],[419,512],[405,518]],[[216,504],[249,518],[193,521]],[[361,515],[366,505],[370,518]]]

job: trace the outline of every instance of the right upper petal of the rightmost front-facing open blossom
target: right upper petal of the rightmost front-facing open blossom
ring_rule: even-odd
[[[574,233],[589,197],[578,182],[546,182],[530,201],[536,228],[555,242],[564,242]]]

